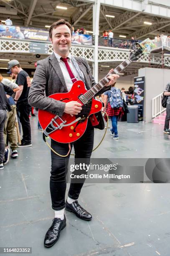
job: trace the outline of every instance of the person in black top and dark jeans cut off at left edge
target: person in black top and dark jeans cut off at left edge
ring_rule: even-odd
[[[6,92],[6,94],[5,94]],[[7,148],[5,151],[5,143],[4,143],[4,125],[5,120],[7,118],[7,110],[10,111],[10,105],[8,103],[8,98],[12,96],[14,91],[10,89],[9,86],[0,82],[0,170],[4,169],[3,161],[4,155],[9,158],[10,150]]]

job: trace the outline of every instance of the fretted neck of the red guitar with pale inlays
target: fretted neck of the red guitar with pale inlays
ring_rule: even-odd
[[[106,84],[109,83],[109,79],[107,78],[111,74],[119,74],[123,69],[125,69],[132,61],[130,59],[126,59],[123,61],[119,66],[117,66],[112,72],[107,74],[103,79],[101,79],[97,84],[95,84],[93,87],[91,87],[90,90],[88,90],[84,97],[86,100],[90,100],[96,93],[98,93]]]

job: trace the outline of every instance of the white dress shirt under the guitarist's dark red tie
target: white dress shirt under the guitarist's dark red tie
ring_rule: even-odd
[[[66,82],[66,86],[67,86],[67,90],[68,92],[71,90],[71,87],[73,85],[73,82],[71,80],[71,77],[69,75],[69,72],[66,68],[66,65],[65,63],[60,59],[61,56],[59,54],[56,54],[56,52],[54,52],[55,56],[56,56],[56,59],[58,60],[58,63],[61,67],[61,71],[63,73],[63,77],[64,77],[64,80]],[[81,80],[80,76],[79,76],[79,73],[77,72],[76,68],[74,67],[74,64],[73,62],[71,61],[71,54],[69,53],[69,55],[67,56],[69,59],[68,59],[68,64],[71,68],[71,71],[73,72],[74,74],[74,77],[76,77],[77,80]],[[83,75],[83,78],[84,78],[84,75]]]

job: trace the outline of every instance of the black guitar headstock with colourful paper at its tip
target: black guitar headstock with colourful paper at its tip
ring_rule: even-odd
[[[150,53],[150,51],[155,48],[155,44],[153,44],[150,38],[145,39],[141,43],[134,44],[135,49],[130,52],[129,59],[131,61],[138,60],[142,55]]]

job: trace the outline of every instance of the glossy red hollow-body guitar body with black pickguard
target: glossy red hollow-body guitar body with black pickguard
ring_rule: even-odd
[[[81,94],[84,95],[84,93],[86,92],[88,91],[85,89],[84,82],[79,80],[74,82],[69,92],[55,93],[48,97],[63,102],[80,102],[79,96]],[[89,115],[99,112],[102,108],[102,103],[99,100],[95,100],[93,97],[85,105],[82,102],[80,103],[82,105],[82,110],[79,115],[70,115],[67,113],[63,113],[62,116],[58,117],[56,114],[53,114],[46,110],[39,110],[38,120],[44,130],[44,133],[52,138],[54,141],[60,143],[71,143],[81,138],[81,136],[86,131]],[[79,120],[75,121],[77,118],[79,118]],[[51,120],[54,120],[55,122],[53,121],[52,125],[49,125],[51,123]],[[65,122],[64,125],[67,126],[62,126],[63,121]],[[53,129],[58,127],[58,125],[62,127],[52,131]],[[46,131],[49,134],[47,134]]]

